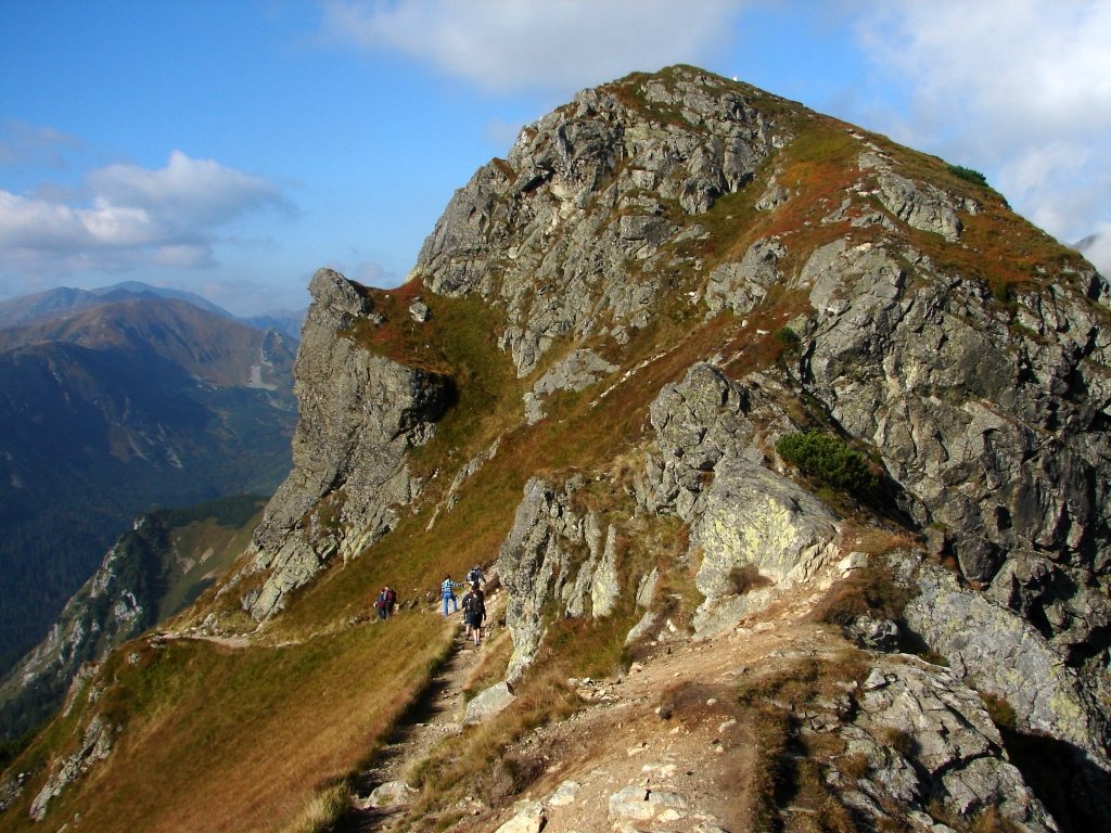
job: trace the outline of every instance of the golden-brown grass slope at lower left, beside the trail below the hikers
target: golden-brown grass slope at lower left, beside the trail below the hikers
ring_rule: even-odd
[[[80,812],[87,831],[219,833],[299,817],[318,785],[334,799],[416,696],[439,630],[434,618],[412,615],[406,628],[369,625],[283,649],[181,641],[140,649],[134,664],[117,654],[104,670],[113,685],[96,706],[120,726],[112,755],[48,819]],[[382,655],[392,658],[389,686],[377,671]],[[26,817],[26,807],[13,810],[0,830]]]

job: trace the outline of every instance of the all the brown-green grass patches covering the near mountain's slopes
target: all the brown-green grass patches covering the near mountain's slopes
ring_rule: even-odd
[[[768,99],[761,106],[778,110],[780,118],[794,118],[778,100]],[[704,259],[701,271],[680,270],[672,275],[674,292],[663,301],[657,320],[630,344],[620,349],[594,345],[624,368],[659,358],[597,403],[597,391],[617,378],[583,393],[560,394],[549,402],[548,420],[531,428],[514,426],[520,394],[531,380],[517,380],[497,349],[496,313],[473,300],[426,295],[432,319],[419,329],[418,338],[418,328],[408,322],[404,311],[419,285],[373,292],[388,324],[376,331],[357,329],[350,337],[396,358],[450,372],[458,380],[457,405],[443,419],[437,439],[413,456],[414,469],[430,478],[417,513],[404,518],[363,558],[333,564],[268,631],[268,642],[274,645],[287,639],[303,640],[303,644],[242,651],[192,643],[140,648],[136,665],[120,659],[127,655],[121,653],[103,675],[117,676],[109,696],[126,725],[117,752],[52,805],[51,822],[61,823],[80,810],[86,831],[138,826],[139,820],[152,831],[272,830],[304,806],[314,791],[342,779],[371,754],[449,639],[438,616],[420,611],[404,611],[386,626],[351,626],[352,619],[366,614],[374,591],[389,582],[406,601],[433,591],[444,572],[459,574],[476,561],[490,561],[532,474],[560,482],[573,471],[604,472],[621,485],[622,461],[645,438],[647,405],[662,384],[680,379],[691,362],[724,352],[735,357],[730,370],[737,375],[773,367],[783,343],[771,334],[807,312],[804,297],[773,292],[747,317],[745,325],[728,314],[703,322],[682,292],[700,288],[713,265],[739,259],[758,238],[780,233],[790,252],[785,264],[790,272],[828,240],[849,233],[863,241],[879,233],[818,222],[841,202],[843,189],[858,177],[854,159],[860,145],[848,137],[845,126],[803,116],[794,120],[793,131],[797,141],[771,163],[779,169],[777,181],[792,190],[792,199],[775,212],[755,212],[753,203],[771,175],[769,165],[743,192],[720,200],[708,215],[689,220],[711,232],[709,240],[688,244],[693,249],[690,254]],[[984,213],[968,219],[967,250],[945,247],[934,235],[911,234],[938,262],[957,258],[961,262],[954,267],[981,274],[992,247],[1002,245],[1003,232],[1019,235],[1032,261],[1068,257],[1005,212],[990,192],[945,180],[950,174],[941,160],[894,148],[891,152],[904,161],[904,172],[945,181],[954,190],[974,191],[985,203]],[[942,260],[943,255],[948,259]],[[1031,279],[1025,272],[983,277],[1003,283]],[[454,472],[502,433],[498,455],[468,481],[458,505],[441,513],[429,531],[433,506]],[[583,500],[628,516],[620,490],[599,486]],[[659,549],[638,551],[627,542],[624,570],[643,570],[653,558],[671,558],[661,552],[681,552],[683,531],[660,523],[645,530],[655,536]],[[682,585],[681,571],[671,581]],[[630,614],[622,609],[608,623],[557,628],[546,649],[552,680],[571,669],[615,662]],[[571,655],[575,645],[590,649]],[[497,754],[499,744],[512,733],[568,707],[564,697],[552,694],[551,680],[529,685],[536,686],[536,695],[521,699],[516,722],[507,722],[500,734],[481,740],[469,735],[468,743],[482,745],[487,756]],[[77,720],[76,714],[60,720],[18,763],[19,769],[34,773],[32,786],[22,806],[0,815],[0,831],[24,824],[26,804],[43,777],[41,763],[48,750],[66,745],[62,739]],[[73,741],[68,745],[72,747]],[[429,783],[450,786],[464,779],[457,760],[463,749],[434,762],[424,775]]]

